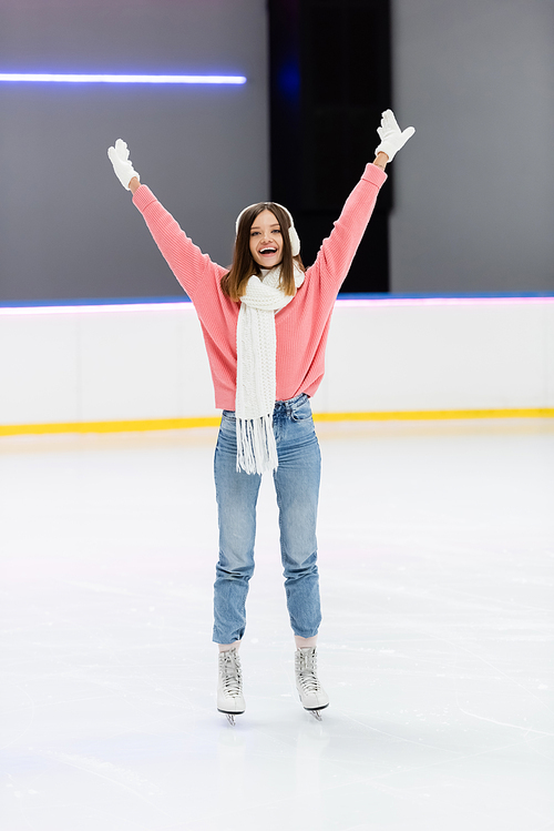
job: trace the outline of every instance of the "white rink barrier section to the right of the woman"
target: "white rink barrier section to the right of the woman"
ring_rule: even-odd
[[[339,301],[317,407],[554,406],[554,298]]]

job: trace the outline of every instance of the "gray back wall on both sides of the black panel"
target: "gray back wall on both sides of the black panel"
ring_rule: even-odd
[[[554,2],[392,0],[394,292],[554,291]],[[265,0],[0,0],[3,71],[246,74],[240,88],[0,84],[1,300],[179,292],[105,155],[214,260],[268,196]]]

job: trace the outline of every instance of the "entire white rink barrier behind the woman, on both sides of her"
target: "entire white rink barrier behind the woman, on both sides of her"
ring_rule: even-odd
[[[218,415],[189,303],[0,308],[0,425]],[[554,298],[337,301],[316,413],[554,407]]]

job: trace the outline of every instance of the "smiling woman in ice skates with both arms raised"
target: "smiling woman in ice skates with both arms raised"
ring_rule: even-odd
[[[279,507],[297,690],[305,709],[317,718],[329,705],[316,666],[321,621],[316,543],[320,455],[309,399],[324,376],[335,298],[387,180],[386,164],[413,132],[401,132],[390,110],[382,114],[376,159],[366,166],[309,268],[300,260],[293,217],[274,202],[250,205],[239,214],[230,271],[216,265],[141,185],[126,144],[120,139],[107,151],[196,308],[216,406],[223,411],[214,465],[219,560],[213,639],[219,647],[217,709],[230,723],[245,710],[238,648],[254,571],[256,501],[266,470],[273,472]]]

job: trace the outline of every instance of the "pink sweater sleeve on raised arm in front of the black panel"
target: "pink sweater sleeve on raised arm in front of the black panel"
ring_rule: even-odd
[[[367,164],[363,175],[348,196],[330,235],[324,240],[316,262],[309,270],[310,278],[319,282],[321,291],[337,295],[348,274],[353,256],[373,213],[381,185],[387,174],[376,164]]]

